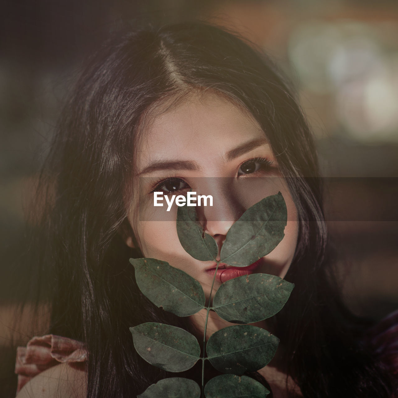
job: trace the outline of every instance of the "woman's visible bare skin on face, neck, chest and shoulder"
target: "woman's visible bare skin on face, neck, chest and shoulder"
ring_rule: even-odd
[[[248,207],[263,197],[281,191],[288,211],[285,237],[253,272],[284,277],[297,244],[297,209],[278,170],[277,157],[264,140],[265,134],[253,117],[214,92],[205,92],[192,93],[170,109],[158,109],[157,115],[150,119],[151,123],[146,125],[143,138],[136,146],[133,188],[137,194],[127,215],[144,256],[168,261],[173,267],[187,272],[201,283],[205,295],[209,297],[213,275],[206,270],[213,267],[214,262],[196,260],[185,252],[176,230],[177,205],[174,204],[170,212],[166,211],[167,206],[154,207],[154,183],[159,179],[179,178],[185,184],[179,185],[183,189],[176,195],[185,194],[192,188],[198,195],[213,196],[213,207],[197,209],[205,232],[216,240],[219,252],[228,229]],[[239,156],[226,161],[226,154],[230,150],[248,142],[254,142],[251,148],[246,147]],[[253,158],[266,158],[272,164],[265,169],[259,168],[257,163],[247,164]],[[139,174],[153,162],[165,160],[195,162],[198,170],[179,168]],[[244,163],[249,173],[243,172]],[[165,186],[158,185],[156,191],[160,191],[160,188],[164,189]],[[133,247],[133,236],[125,232],[122,234],[126,244]],[[219,286],[220,281],[216,281],[213,295]],[[206,312],[202,310],[190,317],[202,336],[205,316]],[[207,338],[230,325],[211,311]],[[256,326],[272,332],[265,322],[258,322]],[[259,373],[269,382],[275,398],[286,397],[287,388],[300,396],[298,386],[281,370],[283,364],[278,362],[280,349],[283,347],[279,346],[274,359]],[[34,377],[22,388],[17,398],[50,398],[55,395],[60,398],[83,398],[86,396],[86,377],[84,371],[60,364]]]

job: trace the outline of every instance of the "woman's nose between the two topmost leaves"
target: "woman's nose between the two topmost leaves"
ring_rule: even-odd
[[[245,211],[237,195],[230,187],[225,185],[211,189],[210,195],[213,196],[213,206],[202,205],[197,207],[197,214],[204,232],[211,235],[217,242],[217,260],[220,259],[220,250],[228,230]]]

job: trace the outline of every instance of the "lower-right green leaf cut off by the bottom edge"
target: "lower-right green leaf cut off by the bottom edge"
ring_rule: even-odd
[[[205,386],[206,398],[264,398],[268,394],[267,388],[247,376],[220,375]]]

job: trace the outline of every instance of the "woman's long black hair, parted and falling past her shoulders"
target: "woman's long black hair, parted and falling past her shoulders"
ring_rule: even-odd
[[[305,397],[387,398],[390,379],[361,345],[364,323],[339,298],[316,151],[302,111],[265,55],[204,23],[127,32],[105,43],[65,106],[41,174],[33,265],[47,278],[50,331],[89,350],[87,396],[135,397],[166,376],[137,355],[130,326],[191,328],[140,293],[128,260],[142,254],[119,231],[129,228],[134,142],[145,115],[197,89],[215,90],[253,115],[298,209],[299,238],[286,275],[296,287],[272,318],[285,347],[283,370]]]

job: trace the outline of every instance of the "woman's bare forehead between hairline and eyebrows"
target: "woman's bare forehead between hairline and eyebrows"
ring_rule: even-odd
[[[163,107],[165,108],[165,107]],[[136,146],[135,166],[157,160],[210,161],[264,132],[252,115],[232,101],[209,92],[191,94],[149,116]]]

